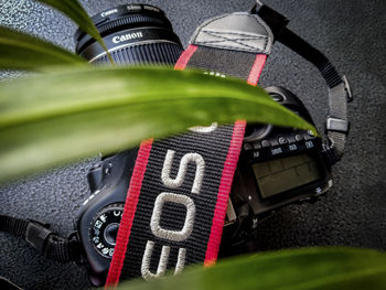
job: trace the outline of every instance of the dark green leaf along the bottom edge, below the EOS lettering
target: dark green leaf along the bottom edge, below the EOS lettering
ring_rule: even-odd
[[[354,248],[280,250],[221,260],[210,268],[194,266],[174,277],[135,280],[118,289],[383,290],[386,254]]]

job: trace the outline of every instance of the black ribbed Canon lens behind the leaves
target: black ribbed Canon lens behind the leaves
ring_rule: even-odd
[[[149,4],[127,4],[92,18],[116,64],[170,64],[183,51],[164,12]],[[77,30],[76,53],[90,63],[109,63],[105,50]]]

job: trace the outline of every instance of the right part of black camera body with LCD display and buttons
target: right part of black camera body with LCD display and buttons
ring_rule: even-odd
[[[276,101],[313,123],[307,108],[291,92],[282,87],[266,90]],[[248,251],[246,243],[253,239],[260,221],[291,203],[314,203],[331,186],[331,163],[320,137],[300,129],[247,125],[221,254]]]

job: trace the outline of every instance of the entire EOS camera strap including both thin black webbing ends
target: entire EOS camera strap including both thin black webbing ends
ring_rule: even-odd
[[[251,13],[213,18],[197,28],[175,69],[201,68],[208,77],[234,76],[257,85],[274,40],[278,40],[315,65],[329,86],[325,153],[333,164],[341,159],[349,133],[350,86],[345,76],[287,29],[287,23],[285,17],[259,1]],[[244,120],[213,123],[141,143],[106,286],[216,261],[245,126]],[[25,239],[46,258],[83,262],[81,241],[73,235],[58,236],[46,224],[0,215],[0,230]]]

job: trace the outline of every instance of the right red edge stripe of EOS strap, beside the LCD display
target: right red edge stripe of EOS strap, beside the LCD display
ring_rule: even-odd
[[[224,219],[228,205],[228,196],[232,187],[233,176],[236,171],[238,157],[242,150],[245,120],[237,120],[233,129],[230,147],[224,163],[223,174],[219,182],[216,207],[212,222],[212,229],[206,247],[204,266],[214,265],[217,260],[218,247],[223,235]]]

